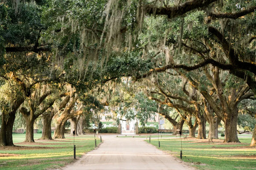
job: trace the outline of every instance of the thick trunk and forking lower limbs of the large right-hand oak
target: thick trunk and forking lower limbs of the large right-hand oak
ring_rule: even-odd
[[[220,105],[218,105],[214,100],[214,96],[211,96],[209,92],[207,92],[207,86],[201,86],[198,81],[195,81],[195,79],[192,79],[192,77],[189,77],[188,75],[182,73],[181,75],[183,77],[186,77],[190,85],[200,91],[200,93],[204,96],[204,98],[211,106],[212,110],[221,120],[223,120],[225,124],[224,142],[239,142],[236,133],[238,116],[237,105],[243,99],[247,99],[250,96],[253,96],[253,93],[250,93],[249,91],[248,85],[244,82],[241,82],[241,79],[237,79],[236,83],[238,83],[239,85],[237,88],[229,86],[230,82],[226,82],[225,78],[230,79],[231,83],[234,83],[232,81],[232,76],[230,77],[230,75],[227,75],[226,77],[220,77],[219,68],[212,68],[212,74],[209,74],[207,72],[207,77],[211,82],[211,84],[208,85],[212,85],[212,87],[214,88],[216,96],[218,97],[220,102]],[[227,93],[227,96],[225,93]]]

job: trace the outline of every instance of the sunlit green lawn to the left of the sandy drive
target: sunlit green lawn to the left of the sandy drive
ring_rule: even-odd
[[[34,134],[35,143],[23,142],[25,134],[13,134],[15,147],[0,147],[1,170],[43,170],[64,167],[74,161],[73,136],[66,139],[38,140],[42,134]],[[96,138],[97,144],[100,139]],[[76,158],[95,148],[94,135],[75,136]]]

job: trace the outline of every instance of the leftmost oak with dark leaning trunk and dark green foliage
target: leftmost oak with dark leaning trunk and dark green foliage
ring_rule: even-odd
[[[20,77],[30,77],[37,64],[41,61],[47,61],[46,55],[37,57],[35,53],[39,51],[49,51],[49,48],[39,45],[41,32],[40,12],[36,3],[18,3],[16,1],[7,1],[1,3],[1,54],[4,54],[4,62],[1,69],[1,77],[6,81],[13,81],[19,86],[15,98],[9,100],[9,111],[5,111],[3,116],[1,130],[1,145],[13,145],[12,127],[17,108],[24,102],[26,97],[30,96],[30,90],[35,84],[26,84]],[[3,13],[4,12],[4,15]],[[40,60],[42,59],[42,60]],[[45,62],[41,62],[41,64]],[[43,66],[42,65],[42,66]],[[40,68],[39,68],[40,69]],[[33,75],[32,75],[33,76]],[[36,76],[35,76],[36,77]],[[12,83],[11,83],[12,84]],[[15,91],[13,91],[15,92]],[[18,98],[17,98],[18,97]],[[14,99],[14,100],[13,100]]]

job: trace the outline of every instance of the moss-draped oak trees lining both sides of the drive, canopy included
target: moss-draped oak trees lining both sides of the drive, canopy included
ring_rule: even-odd
[[[85,96],[106,103],[106,82],[120,77],[143,86],[175,128],[198,126],[199,139],[206,121],[217,137],[222,120],[225,142],[239,142],[238,113],[255,117],[253,0],[12,0],[0,8],[1,145],[13,144],[17,111],[29,129],[38,116],[61,113],[55,137],[64,137],[67,119],[100,108]],[[256,130],[252,146],[255,139]]]

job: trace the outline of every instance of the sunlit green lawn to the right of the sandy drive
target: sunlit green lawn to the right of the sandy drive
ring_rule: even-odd
[[[182,160],[192,163],[199,170],[252,170],[256,167],[256,147],[248,147],[251,137],[242,137],[239,140],[240,144],[220,142],[208,144],[205,139],[182,139]],[[159,149],[180,158],[180,139],[159,139],[159,141]],[[151,144],[158,147],[158,139],[152,139]]]

